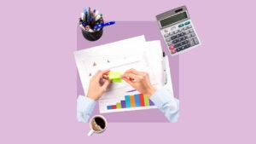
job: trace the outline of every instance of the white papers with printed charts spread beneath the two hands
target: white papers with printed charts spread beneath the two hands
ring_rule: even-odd
[[[162,49],[160,41],[146,42],[144,36],[96,46],[74,52],[80,80],[86,94],[90,78],[98,71],[110,69],[125,72],[131,68],[148,72],[151,83],[163,86]],[[170,74],[170,73],[169,73]],[[100,112],[124,112],[155,108],[146,96],[124,81],[110,84],[99,100]]]

